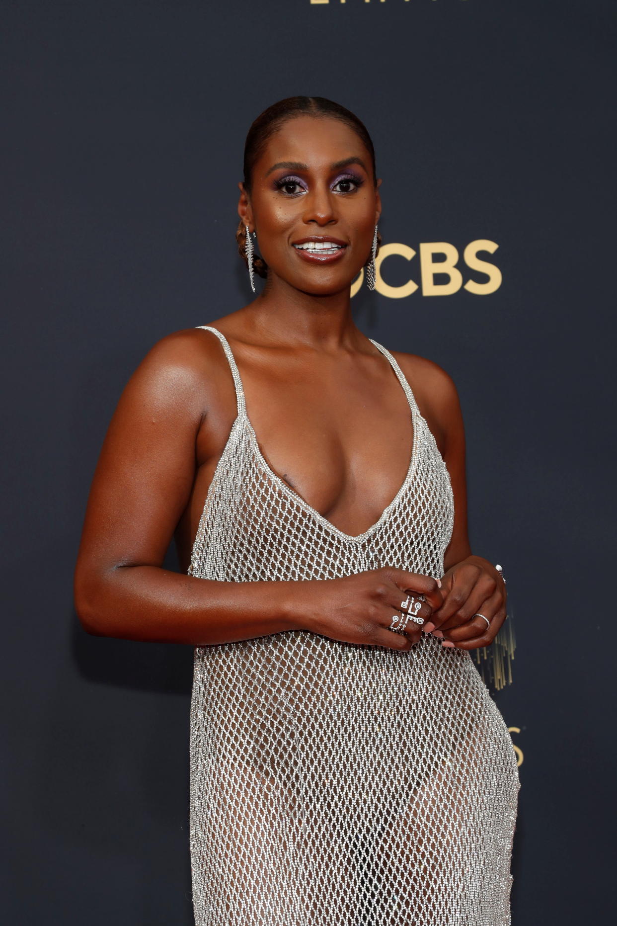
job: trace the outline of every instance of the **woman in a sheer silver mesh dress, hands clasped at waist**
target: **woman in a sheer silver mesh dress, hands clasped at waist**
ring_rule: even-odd
[[[255,120],[238,241],[265,288],[154,345],[94,475],[83,626],[195,646],[198,926],[510,922],[518,775],[469,652],[504,582],[469,547],[450,377],[352,321],[380,182],[342,106]]]

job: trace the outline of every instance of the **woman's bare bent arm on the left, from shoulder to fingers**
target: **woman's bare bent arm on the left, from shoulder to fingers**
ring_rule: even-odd
[[[409,648],[409,639],[385,628],[401,589],[422,592],[438,607],[437,584],[426,576],[381,569],[330,582],[214,582],[163,569],[191,495],[211,373],[203,342],[176,332],[154,345],[120,397],[75,569],[82,626],[96,635],[191,645],[304,629]]]

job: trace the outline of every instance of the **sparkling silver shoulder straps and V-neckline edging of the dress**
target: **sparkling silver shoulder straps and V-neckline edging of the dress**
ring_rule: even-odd
[[[205,331],[213,332],[216,334],[216,337],[221,342],[223,346],[223,350],[225,351],[225,355],[228,358],[229,367],[231,369],[231,373],[232,373],[233,380],[234,380],[234,385],[236,388],[238,415],[234,423],[231,426],[227,444],[218,461],[216,469],[218,469],[218,467],[221,464],[223,464],[224,457],[226,457],[226,451],[231,442],[232,434],[235,432],[236,426],[239,420],[241,420],[249,432],[249,439],[253,447],[253,453],[255,457],[257,458],[257,460],[259,461],[259,463],[261,464],[262,468],[265,470],[265,474],[267,475],[268,479],[270,479],[272,482],[278,485],[278,487],[283,492],[290,495],[291,499],[297,505],[302,507],[306,514],[309,514],[313,519],[318,521],[318,523],[320,523],[323,527],[325,527],[327,531],[336,534],[341,539],[346,540],[350,543],[362,543],[364,540],[370,537],[372,533],[376,532],[376,530],[379,527],[381,527],[381,525],[385,521],[388,520],[390,512],[398,505],[399,501],[401,500],[401,496],[405,494],[407,488],[409,487],[410,482],[412,481],[413,472],[416,466],[417,455],[418,455],[418,431],[419,431],[419,427],[422,421],[422,415],[420,414],[420,411],[415,402],[412,388],[407,382],[407,379],[405,378],[401,368],[399,367],[399,364],[396,362],[394,357],[392,357],[389,351],[382,344],[377,344],[377,342],[374,341],[373,338],[368,339],[371,342],[371,344],[374,344],[377,350],[380,351],[384,355],[384,357],[386,357],[386,359],[389,361],[389,365],[391,369],[394,370],[396,378],[401,384],[402,391],[405,394],[405,397],[407,399],[407,404],[410,410],[410,422],[413,428],[412,452],[411,452],[411,456],[409,460],[409,466],[405,474],[405,478],[403,479],[401,483],[401,488],[399,489],[397,494],[394,495],[394,498],[392,498],[389,504],[383,509],[383,511],[381,512],[379,517],[376,519],[376,521],[373,524],[371,524],[369,527],[367,527],[365,531],[363,531],[362,533],[358,533],[358,534],[351,534],[351,533],[345,533],[344,531],[341,531],[340,528],[336,526],[336,524],[333,524],[331,520],[328,520],[324,515],[322,515],[319,511],[317,511],[316,508],[310,505],[306,501],[306,499],[302,497],[300,493],[296,492],[295,489],[291,488],[289,482],[285,482],[285,480],[282,479],[282,477],[279,476],[278,473],[275,472],[274,469],[272,469],[270,464],[265,459],[264,453],[262,452],[262,449],[259,445],[259,441],[257,440],[257,435],[254,431],[253,424],[247,414],[244,387],[242,385],[240,371],[236,363],[236,358],[233,356],[231,348],[229,347],[227,338],[225,337],[224,334],[219,332],[217,328],[213,328],[211,325],[198,325],[197,327],[202,328]],[[215,470],[215,476],[216,476],[216,470]],[[214,484],[214,482],[215,482],[215,479],[213,478],[211,486],[212,484]]]

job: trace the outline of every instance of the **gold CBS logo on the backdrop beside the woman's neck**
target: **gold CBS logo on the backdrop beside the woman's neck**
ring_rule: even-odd
[[[489,241],[487,238],[477,238],[475,241],[467,244],[463,251],[463,263],[465,267],[476,270],[478,273],[487,277],[486,282],[475,282],[467,280],[463,282],[463,273],[458,268],[459,252],[453,244],[446,241],[433,241],[419,245],[419,267],[417,264],[410,268],[410,274],[417,274],[419,270],[419,283],[412,276],[401,286],[390,286],[382,276],[384,261],[389,257],[402,257],[404,260],[411,262],[416,252],[409,244],[382,244],[375,261],[375,288],[377,293],[388,296],[389,299],[404,299],[408,295],[421,290],[422,295],[452,295],[458,293],[461,287],[468,293],[474,295],[489,295],[495,293],[501,285],[501,271],[495,264],[490,264],[487,260],[481,260],[478,257],[480,251],[487,251],[488,254],[494,254],[499,244]],[[440,259],[436,259],[438,257]],[[448,277],[447,282],[436,282],[435,278],[439,274]],[[416,279],[418,277],[416,276]],[[362,269],[356,279],[352,282],[352,296],[354,296],[362,286],[364,280],[364,269]]]

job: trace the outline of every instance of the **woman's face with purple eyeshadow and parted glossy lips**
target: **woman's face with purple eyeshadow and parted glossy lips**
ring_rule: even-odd
[[[348,290],[381,211],[371,156],[355,131],[338,119],[290,119],[269,139],[252,181],[250,198],[241,185],[238,211],[257,232],[268,281],[315,295]]]

